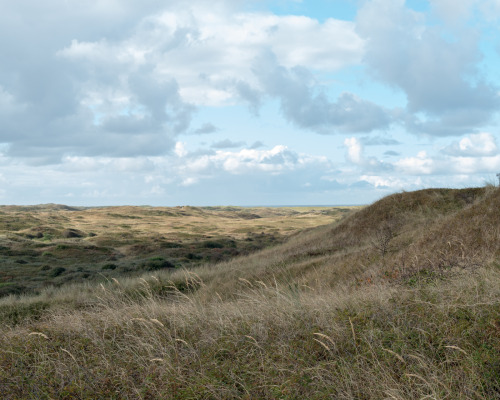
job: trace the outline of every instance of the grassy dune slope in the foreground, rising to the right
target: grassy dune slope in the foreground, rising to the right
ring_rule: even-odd
[[[500,190],[397,193],[260,252],[0,301],[6,398],[500,398]]]

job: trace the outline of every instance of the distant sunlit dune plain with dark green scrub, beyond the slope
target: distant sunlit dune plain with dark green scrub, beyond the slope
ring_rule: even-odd
[[[0,296],[219,262],[353,208],[0,206]]]

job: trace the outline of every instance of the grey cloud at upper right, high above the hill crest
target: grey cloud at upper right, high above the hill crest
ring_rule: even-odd
[[[439,4],[449,8],[444,0]],[[453,4],[457,16],[466,12],[465,5]],[[498,88],[484,81],[477,68],[476,30],[465,24],[453,31],[430,24],[425,14],[406,8],[404,0],[367,2],[358,13],[357,28],[367,41],[364,59],[373,75],[406,94],[408,115],[400,120],[408,129],[464,134],[497,111]]]

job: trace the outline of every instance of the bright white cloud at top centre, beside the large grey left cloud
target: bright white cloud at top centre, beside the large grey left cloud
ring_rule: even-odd
[[[185,101],[221,105],[235,101],[238,82],[258,83],[250,66],[263,49],[287,68],[332,71],[359,63],[364,43],[354,28],[334,19],[176,7],[144,18],[130,37],[73,40],[59,54],[94,69],[151,64],[158,79],[175,76]]]

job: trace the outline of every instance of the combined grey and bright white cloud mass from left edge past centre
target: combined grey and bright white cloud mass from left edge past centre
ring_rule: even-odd
[[[263,90],[250,66],[263,48],[285,68],[331,71],[361,58],[351,22],[245,13],[241,3],[4,4],[0,142],[40,164],[164,154],[192,132],[197,106],[244,101],[258,112]],[[352,106],[369,107],[350,96],[336,108]],[[194,133],[214,131],[207,123]]]

